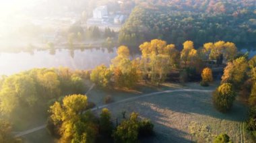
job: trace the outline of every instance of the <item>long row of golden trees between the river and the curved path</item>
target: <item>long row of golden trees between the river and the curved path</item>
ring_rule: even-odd
[[[104,88],[132,88],[141,80],[160,85],[173,70],[179,71],[181,82],[198,81],[209,62],[213,62],[212,66],[222,66],[238,54],[234,43],[224,41],[206,43],[197,50],[192,41],[186,41],[179,51],[174,44],[156,39],[144,42],[139,49],[141,57],[131,60],[129,48],[120,46],[109,68],[101,65],[92,70],[91,81]]]

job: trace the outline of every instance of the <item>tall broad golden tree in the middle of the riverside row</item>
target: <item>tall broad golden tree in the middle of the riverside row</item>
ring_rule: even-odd
[[[179,52],[174,44],[167,45],[162,40],[151,40],[139,46],[141,50],[141,69],[144,77],[150,78],[153,84],[162,83],[171,68],[179,63]]]

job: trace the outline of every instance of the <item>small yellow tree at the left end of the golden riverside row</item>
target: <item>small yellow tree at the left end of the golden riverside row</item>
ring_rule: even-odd
[[[111,71],[103,64],[97,66],[90,75],[90,79],[96,85],[107,88],[110,85]]]

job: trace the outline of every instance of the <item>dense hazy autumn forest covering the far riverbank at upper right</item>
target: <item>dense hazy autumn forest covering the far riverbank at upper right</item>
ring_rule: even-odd
[[[243,48],[256,45],[256,11],[253,1],[152,1],[131,12],[119,42],[138,46],[154,38],[175,43],[225,40]]]

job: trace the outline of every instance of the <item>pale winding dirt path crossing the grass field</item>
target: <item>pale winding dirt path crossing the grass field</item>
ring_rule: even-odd
[[[159,95],[159,94],[162,94],[162,93],[175,93],[175,92],[203,92],[203,93],[209,93],[209,92],[212,92],[212,91],[213,90],[202,90],[202,89],[174,89],[174,90],[167,90],[167,91],[158,91],[158,92],[154,92],[154,93],[148,93],[148,94],[145,94],[145,95],[137,95],[136,97],[123,99],[123,100],[113,102],[113,103],[110,103],[110,104],[107,104],[107,105],[96,106],[96,107],[92,108],[91,111],[96,111],[98,109],[102,109],[102,108],[108,107],[110,105],[115,105],[115,104],[118,104],[118,103],[124,103],[124,102],[127,102],[127,101],[133,101],[135,99],[139,99],[139,98],[143,98],[143,97],[149,97],[149,96],[152,96],[152,95]],[[38,126],[36,128],[32,128],[30,130],[19,132],[18,134],[15,134],[15,137],[24,136],[26,134],[30,134],[32,132],[36,132],[36,131],[42,130],[44,128],[46,128],[46,124],[44,124],[42,126]]]

